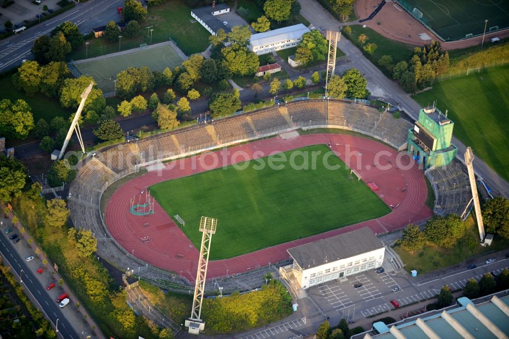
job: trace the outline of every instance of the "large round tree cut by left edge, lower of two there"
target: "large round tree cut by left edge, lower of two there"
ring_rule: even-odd
[[[0,180],[0,202],[7,204],[13,197],[21,194],[21,190],[25,186],[25,173],[25,166],[21,162],[0,154],[0,178],[2,178]]]

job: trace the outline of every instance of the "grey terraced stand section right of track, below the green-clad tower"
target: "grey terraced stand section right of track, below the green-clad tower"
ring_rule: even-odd
[[[428,171],[427,176],[435,192],[434,212],[461,216],[472,197],[466,166],[455,159],[447,166]]]

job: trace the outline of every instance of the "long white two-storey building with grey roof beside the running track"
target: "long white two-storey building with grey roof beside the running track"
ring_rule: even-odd
[[[382,266],[385,247],[369,229],[289,248],[302,289]]]

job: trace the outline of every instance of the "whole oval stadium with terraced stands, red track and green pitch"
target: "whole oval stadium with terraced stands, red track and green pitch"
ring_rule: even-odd
[[[362,102],[317,99],[146,137],[79,164],[71,218],[94,232],[102,258],[189,286],[201,215],[218,217],[208,277],[225,279],[287,262],[288,248],[318,239],[463,214],[469,187],[456,160],[426,171],[436,202],[433,211],[425,205],[423,170],[406,152],[412,126]],[[252,170],[282,154],[302,166],[306,152],[318,154],[315,171]],[[253,190],[253,180],[266,189]]]

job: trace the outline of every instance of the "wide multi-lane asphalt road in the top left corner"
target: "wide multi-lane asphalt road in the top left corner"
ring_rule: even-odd
[[[76,6],[67,12],[1,40],[0,72],[18,67],[23,59],[32,59],[30,49],[34,40],[42,35],[49,35],[62,22],[71,21],[78,25],[81,33],[86,34],[94,27],[105,25],[109,20],[119,21],[117,8],[123,3],[123,0],[89,0],[86,3],[76,3]]]

